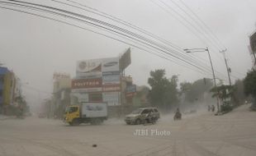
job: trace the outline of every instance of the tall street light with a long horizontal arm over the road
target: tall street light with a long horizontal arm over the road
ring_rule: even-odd
[[[213,66],[212,66],[211,54],[210,54],[209,48],[208,47],[206,47],[206,48],[185,48],[184,51],[186,53],[196,53],[196,52],[207,52],[208,53],[209,60],[210,60],[210,63],[211,63],[211,71],[212,71],[214,86],[217,87],[216,76],[215,76],[215,72],[214,72],[214,69],[213,69]],[[217,110],[218,110],[218,112],[220,112],[219,91],[218,91],[218,96],[217,96]]]

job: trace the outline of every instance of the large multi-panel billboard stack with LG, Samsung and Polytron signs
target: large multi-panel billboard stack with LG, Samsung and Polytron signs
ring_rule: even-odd
[[[104,101],[111,106],[120,105],[120,67],[129,66],[130,52],[126,52],[121,60],[122,65],[119,57],[78,61],[76,79],[72,80],[73,94],[78,94],[79,100],[83,101]],[[82,94],[86,96],[81,97]]]

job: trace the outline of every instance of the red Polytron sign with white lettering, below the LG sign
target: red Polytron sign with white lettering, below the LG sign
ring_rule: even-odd
[[[102,87],[102,79],[74,79],[72,89],[97,88]]]

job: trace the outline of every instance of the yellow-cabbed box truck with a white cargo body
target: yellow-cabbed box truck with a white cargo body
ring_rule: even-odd
[[[107,120],[107,103],[80,103],[66,108],[64,122],[70,126],[81,123],[101,124]]]

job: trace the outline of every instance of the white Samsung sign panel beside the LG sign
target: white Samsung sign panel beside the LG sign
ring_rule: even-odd
[[[119,71],[119,58],[103,58],[102,59],[102,72],[106,71]]]

